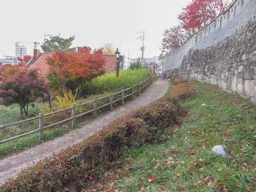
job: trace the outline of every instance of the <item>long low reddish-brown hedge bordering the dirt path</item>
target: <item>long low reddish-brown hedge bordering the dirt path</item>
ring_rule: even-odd
[[[184,112],[166,96],[120,118],[83,142],[23,170],[2,192],[81,191],[111,168],[123,152],[154,142]]]

